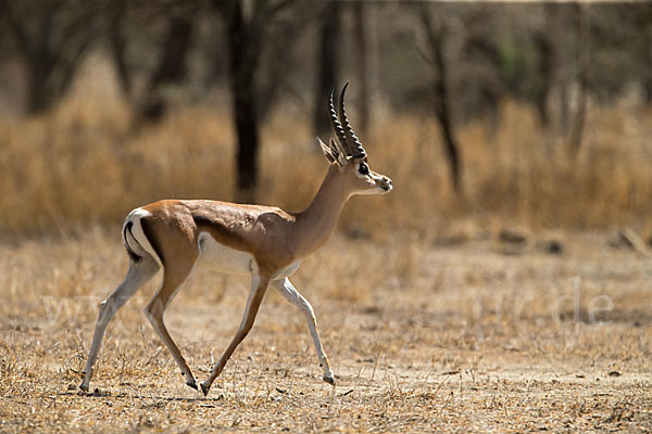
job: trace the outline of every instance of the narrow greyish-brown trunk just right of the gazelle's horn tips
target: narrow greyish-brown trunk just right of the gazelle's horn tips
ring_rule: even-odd
[[[358,80],[360,81],[360,126],[363,132],[369,128],[369,77],[368,77],[368,34],[366,25],[365,3],[353,3],[355,21],[355,41],[358,49]]]

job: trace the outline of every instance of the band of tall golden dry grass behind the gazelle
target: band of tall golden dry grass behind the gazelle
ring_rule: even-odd
[[[234,199],[226,112],[179,108],[160,126],[134,131],[128,107],[102,101],[72,97],[40,118],[0,125],[3,233],[117,225],[129,209],[162,197]],[[347,229],[381,239],[397,227],[437,232],[461,217],[481,229],[644,225],[652,210],[652,112],[591,111],[576,159],[539,128],[530,108],[506,103],[501,119],[494,135],[481,123],[459,130],[464,199],[451,192],[431,118],[377,119],[363,139],[372,166],[396,190],[349,204]],[[259,202],[301,209],[314,194],[326,165],[308,125],[304,115],[288,113],[265,125]]]

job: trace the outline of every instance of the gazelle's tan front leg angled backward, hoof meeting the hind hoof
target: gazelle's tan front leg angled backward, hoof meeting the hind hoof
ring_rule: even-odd
[[[251,281],[251,291],[249,292],[249,297],[247,298],[247,306],[244,307],[244,315],[242,316],[240,328],[236,332],[236,335],[225,349],[224,354],[222,354],[220,357],[220,360],[217,360],[211,370],[209,378],[200,384],[204,396],[209,394],[209,390],[211,388],[213,381],[215,381],[217,375],[220,375],[229,357],[236,350],[236,347],[240,344],[240,342],[242,342],[244,336],[247,336],[247,333],[249,333],[253,327],[253,321],[255,320],[255,316],[258,315],[259,307],[261,306],[261,302],[263,301],[263,296],[265,295],[268,284],[269,278],[253,275]]]

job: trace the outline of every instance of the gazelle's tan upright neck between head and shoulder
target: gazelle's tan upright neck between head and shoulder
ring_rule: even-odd
[[[350,193],[339,170],[336,164],[330,166],[310,206],[297,215],[299,256],[309,255],[321,247],[337,225]]]

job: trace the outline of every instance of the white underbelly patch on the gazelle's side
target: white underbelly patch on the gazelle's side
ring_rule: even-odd
[[[197,265],[228,275],[249,275],[258,267],[253,255],[218,243],[208,232],[199,235]]]

